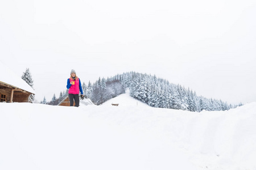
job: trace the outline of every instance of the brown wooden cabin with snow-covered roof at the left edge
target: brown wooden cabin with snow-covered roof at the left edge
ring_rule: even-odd
[[[33,88],[1,62],[0,67],[3,73],[7,73],[0,75],[1,102],[28,102],[28,97],[35,94]]]

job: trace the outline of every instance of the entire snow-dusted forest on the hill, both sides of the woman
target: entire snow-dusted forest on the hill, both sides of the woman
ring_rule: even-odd
[[[222,100],[207,99],[203,96],[197,96],[195,91],[173,84],[168,80],[157,78],[155,75],[141,74],[134,71],[117,74],[110,78],[99,78],[94,83],[82,83],[84,95],[96,105],[112,99],[129,89],[130,96],[142,101],[155,108],[181,109],[184,111],[201,112],[205,111],[226,111],[230,108],[236,108],[239,105],[228,104]],[[66,96],[68,90],[61,91],[60,97],[55,94],[52,100],[43,104],[57,105]]]

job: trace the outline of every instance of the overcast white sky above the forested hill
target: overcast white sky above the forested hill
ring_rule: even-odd
[[[238,104],[256,101],[256,1],[0,0],[0,60],[36,99],[126,71]],[[1,73],[6,74],[7,73]]]

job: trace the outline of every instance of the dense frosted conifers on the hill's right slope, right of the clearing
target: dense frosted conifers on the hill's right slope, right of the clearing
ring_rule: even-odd
[[[157,78],[155,75],[130,72],[117,75],[114,79],[119,79],[129,88],[130,96],[151,107],[201,112],[203,110],[226,111],[238,106],[222,100],[197,96],[195,91]]]

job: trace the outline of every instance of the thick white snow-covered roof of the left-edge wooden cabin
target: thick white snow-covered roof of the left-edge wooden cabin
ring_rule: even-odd
[[[35,94],[35,91],[32,87],[30,87],[30,85],[28,85],[22,78],[20,78],[20,76],[16,75],[11,69],[9,69],[9,67],[4,65],[1,61],[0,68],[2,71],[2,73],[0,74],[1,83]]]

